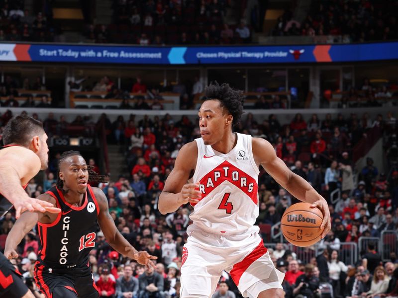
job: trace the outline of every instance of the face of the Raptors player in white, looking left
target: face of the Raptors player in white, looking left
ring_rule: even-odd
[[[199,109],[200,135],[205,145],[213,145],[220,141],[228,121],[232,116],[220,107],[218,100],[206,100]]]

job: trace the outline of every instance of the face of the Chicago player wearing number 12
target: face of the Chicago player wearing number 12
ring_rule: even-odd
[[[64,187],[79,194],[84,194],[89,181],[86,160],[80,155],[66,158],[61,163],[60,178],[64,181]]]

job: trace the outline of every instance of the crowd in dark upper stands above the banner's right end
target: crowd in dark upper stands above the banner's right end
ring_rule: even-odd
[[[306,19],[299,23],[286,10],[272,31],[274,36],[343,36],[342,42],[398,38],[397,1],[313,1]]]

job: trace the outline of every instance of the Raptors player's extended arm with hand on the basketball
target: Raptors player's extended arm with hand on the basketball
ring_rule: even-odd
[[[330,212],[326,200],[318,194],[313,187],[302,177],[293,173],[280,159],[272,145],[259,138],[253,138],[253,155],[258,164],[284,188],[286,188],[298,200],[312,204],[312,208],[319,208],[323,213],[323,222],[320,226],[323,229],[322,238],[330,230]]]

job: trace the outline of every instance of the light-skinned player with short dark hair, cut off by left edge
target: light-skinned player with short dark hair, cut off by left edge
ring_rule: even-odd
[[[24,188],[48,165],[47,135],[41,122],[28,116],[11,118],[0,148],[0,218],[14,205],[16,218],[26,210],[59,213],[45,201],[32,199]],[[0,253],[0,298],[33,298],[14,266]]]

